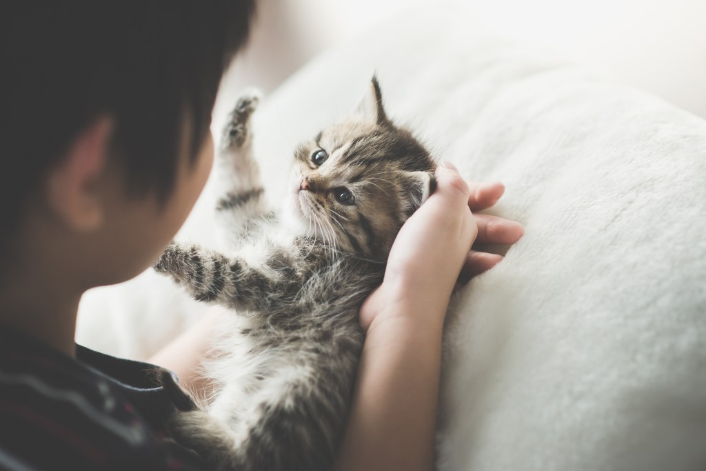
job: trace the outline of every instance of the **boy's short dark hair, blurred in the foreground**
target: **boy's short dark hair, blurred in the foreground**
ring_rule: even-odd
[[[203,143],[254,0],[36,1],[0,6],[0,249],[72,139],[114,117],[131,191],[167,196],[184,119]]]

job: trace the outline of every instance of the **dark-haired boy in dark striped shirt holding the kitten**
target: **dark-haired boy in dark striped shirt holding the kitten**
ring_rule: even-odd
[[[211,108],[253,1],[12,3],[0,12],[0,467],[202,469],[165,439],[181,405],[148,366],[73,337],[81,294],[150,266],[203,189]],[[431,469],[450,294],[462,268],[500,259],[469,251],[476,238],[522,235],[471,213],[495,203],[500,184],[470,189],[450,165],[437,174],[361,306],[340,470]],[[177,340],[181,357],[198,358],[204,332]],[[179,369],[186,386],[192,369]]]

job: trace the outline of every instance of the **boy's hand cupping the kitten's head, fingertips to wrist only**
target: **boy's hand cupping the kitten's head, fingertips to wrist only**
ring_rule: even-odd
[[[471,278],[502,260],[470,250],[473,242],[511,244],[522,237],[517,222],[471,212],[495,204],[505,191],[502,184],[467,184],[448,163],[438,167],[436,178],[436,191],[397,234],[382,285],[361,306],[366,330],[378,318],[376,323],[412,311],[428,313],[419,321],[441,328],[459,275]]]

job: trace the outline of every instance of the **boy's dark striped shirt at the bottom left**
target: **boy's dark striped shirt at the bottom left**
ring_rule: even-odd
[[[0,470],[200,470],[167,438],[176,401],[157,366],[76,346],[76,359],[0,327]]]

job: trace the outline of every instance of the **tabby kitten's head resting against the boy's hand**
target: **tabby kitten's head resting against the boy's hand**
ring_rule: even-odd
[[[302,232],[382,260],[433,192],[435,168],[424,146],[388,119],[373,77],[350,119],[295,151],[289,210]]]

